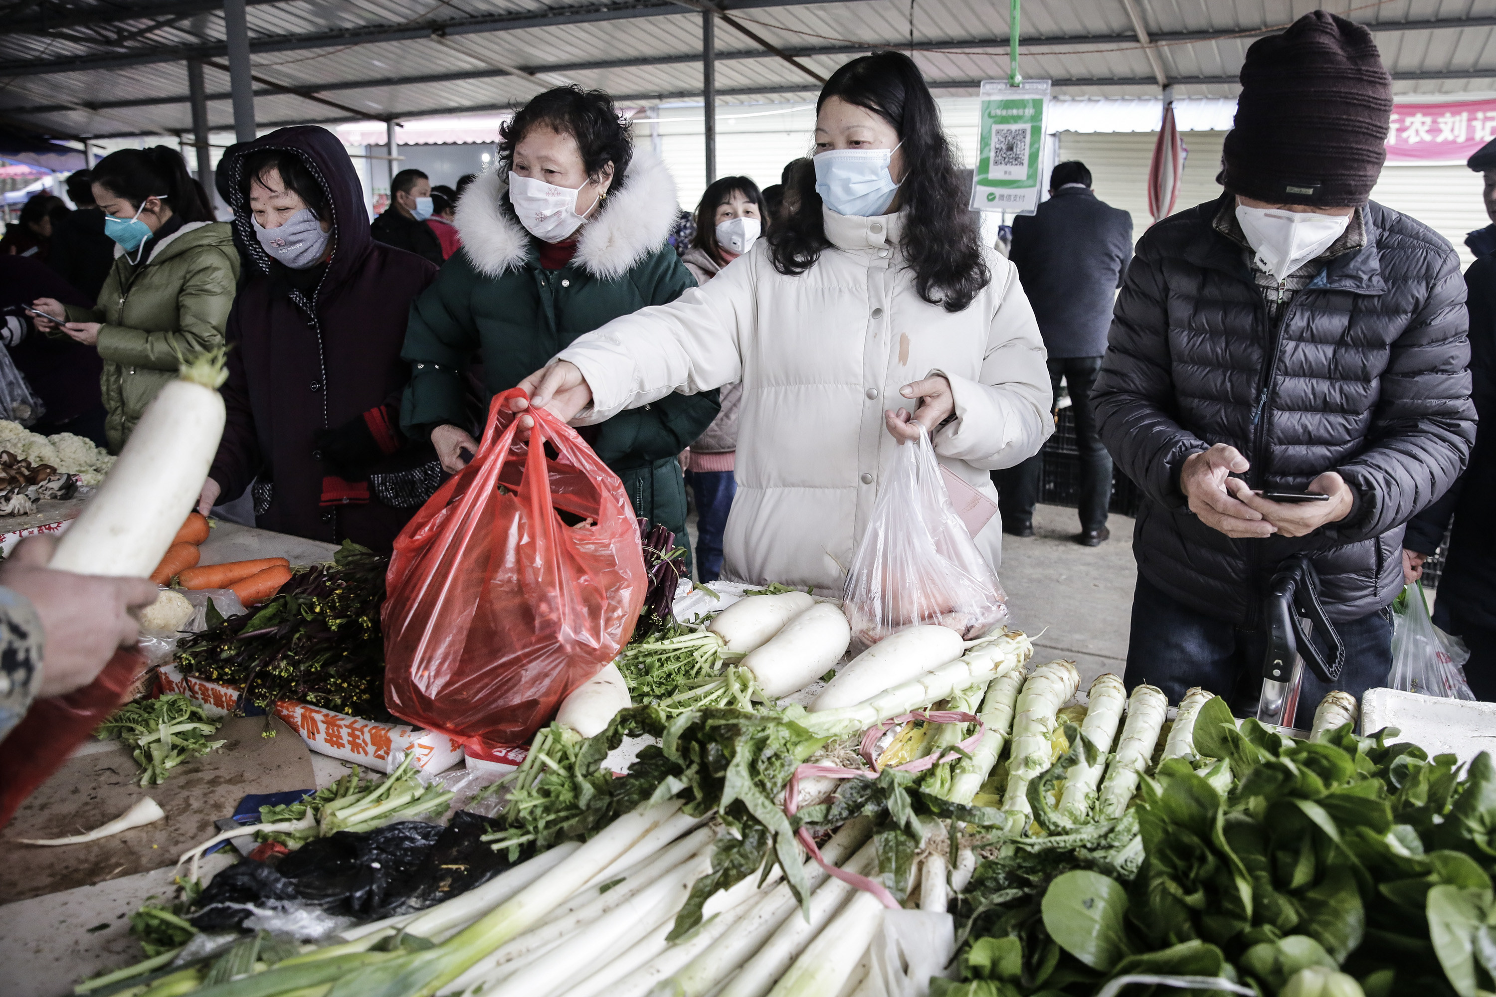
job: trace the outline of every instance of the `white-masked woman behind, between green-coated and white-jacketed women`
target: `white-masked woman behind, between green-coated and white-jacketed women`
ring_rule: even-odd
[[[763,235],[767,212],[758,185],[747,176],[712,181],[696,205],[696,238],[681,256],[697,285],[752,248]],[[742,384],[724,384],[723,411],[691,444],[685,483],[696,495],[696,572],[702,581],[723,574],[723,531],[733,507],[733,451],[738,448],[738,407]]]

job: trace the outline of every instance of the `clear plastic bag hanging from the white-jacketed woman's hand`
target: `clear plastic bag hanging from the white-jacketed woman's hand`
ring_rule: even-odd
[[[998,575],[977,550],[945,492],[929,433],[899,447],[857,546],[842,610],[853,650],[914,623],[975,640],[1008,617]]]

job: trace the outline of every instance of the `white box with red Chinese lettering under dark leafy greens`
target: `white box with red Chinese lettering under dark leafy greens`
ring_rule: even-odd
[[[186,694],[200,703],[208,716],[227,716],[239,701],[233,686],[184,676],[175,665],[162,667],[160,689]],[[462,761],[461,741],[408,723],[380,723],[289,700],[277,703],[274,712],[301,734],[307,747],[346,762],[387,770],[392,753],[399,758],[410,749],[416,752],[416,765],[429,773],[446,771]]]

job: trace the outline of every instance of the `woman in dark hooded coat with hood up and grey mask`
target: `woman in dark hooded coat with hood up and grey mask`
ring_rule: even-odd
[[[389,552],[441,478],[398,411],[405,318],[437,268],[370,238],[353,161],[326,129],[230,146],[217,185],[245,265],[229,419],[199,508],[253,484],[263,529]]]

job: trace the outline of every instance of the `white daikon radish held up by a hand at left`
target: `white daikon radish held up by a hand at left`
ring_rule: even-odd
[[[145,407],[99,493],[57,540],[51,568],[135,578],[156,571],[218,453],[224,378],[221,353],[183,365],[181,378]]]

